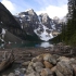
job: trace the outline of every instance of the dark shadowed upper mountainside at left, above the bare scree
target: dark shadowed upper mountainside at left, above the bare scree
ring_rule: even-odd
[[[27,25],[26,22],[25,25]],[[27,37],[29,35],[26,33],[26,30],[22,29],[21,24],[16,22],[10,11],[0,2],[0,34],[2,33],[2,28],[20,39],[29,40]],[[36,37],[36,39],[34,39],[34,37]],[[33,40],[40,40],[36,34],[34,37],[30,36]]]

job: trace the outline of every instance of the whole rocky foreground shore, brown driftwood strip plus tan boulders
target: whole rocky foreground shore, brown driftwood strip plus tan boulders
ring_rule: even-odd
[[[22,67],[2,76],[76,76],[75,48],[58,45],[52,48],[0,49],[0,55],[11,50],[14,63]]]

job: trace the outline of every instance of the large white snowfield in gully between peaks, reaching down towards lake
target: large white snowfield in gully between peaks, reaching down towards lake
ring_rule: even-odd
[[[49,29],[48,27],[46,27],[45,25],[42,25],[40,17],[38,16],[39,22],[40,22],[40,26],[42,27],[43,31],[40,31],[40,26],[35,29],[34,31],[40,37],[41,40],[48,41],[49,39],[52,39],[52,29]],[[51,33],[48,33],[47,30],[50,30]],[[38,34],[38,31],[40,31]]]

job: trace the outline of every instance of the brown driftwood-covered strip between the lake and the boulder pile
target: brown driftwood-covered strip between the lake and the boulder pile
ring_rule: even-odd
[[[22,63],[24,61],[30,61],[33,58],[42,54],[42,53],[50,53],[50,54],[58,54],[63,56],[75,56],[76,52],[75,49],[72,49],[71,47],[62,46],[62,47],[49,47],[49,48],[34,48],[34,47],[27,47],[27,48],[13,48],[13,49],[0,49],[0,55],[3,53],[1,52],[10,52],[13,51],[15,63]]]

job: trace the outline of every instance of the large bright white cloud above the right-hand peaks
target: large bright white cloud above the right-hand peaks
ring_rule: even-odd
[[[46,9],[41,9],[40,11],[37,11],[38,15],[40,13],[48,13],[48,15],[51,18],[53,18],[54,16],[62,18],[63,16],[67,14],[67,4],[64,4],[61,7],[49,5],[49,7],[46,7]]]

